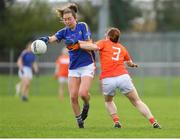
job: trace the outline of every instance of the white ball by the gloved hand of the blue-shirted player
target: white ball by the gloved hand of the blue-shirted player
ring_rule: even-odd
[[[44,54],[47,51],[47,45],[42,40],[35,40],[31,44],[31,51],[34,54]]]

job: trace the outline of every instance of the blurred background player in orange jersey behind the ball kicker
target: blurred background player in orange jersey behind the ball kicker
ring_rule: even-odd
[[[64,98],[64,92],[67,88],[68,82],[68,66],[69,66],[69,56],[67,48],[63,48],[61,55],[56,60],[55,77],[58,79],[59,89],[58,95],[60,100]]]

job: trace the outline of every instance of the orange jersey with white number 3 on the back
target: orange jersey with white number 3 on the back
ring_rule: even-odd
[[[108,39],[100,40],[96,44],[100,49],[100,79],[128,74],[124,62],[131,58],[123,45],[113,43]]]

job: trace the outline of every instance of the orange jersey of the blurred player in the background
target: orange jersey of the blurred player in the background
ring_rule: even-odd
[[[56,65],[58,66],[58,77],[68,77],[68,67],[69,67],[69,56],[68,55],[61,55],[56,60]]]

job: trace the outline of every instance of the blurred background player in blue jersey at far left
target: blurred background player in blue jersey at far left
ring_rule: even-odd
[[[33,70],[38,73],[38,66],[35,62],[35,55],[31,52],[31,41],[28,42],[17,60],[18,75],[21,81],[16,84],[16,94],[21,93],[22,101],[28,100],[29,87],[33,77]]]

